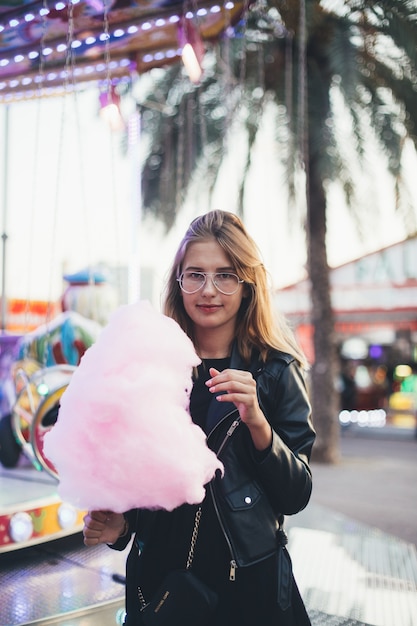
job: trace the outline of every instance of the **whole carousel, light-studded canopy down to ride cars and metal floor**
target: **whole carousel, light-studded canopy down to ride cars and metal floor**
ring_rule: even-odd
[[[68,290],[60,302],[48,302],[43,321],[38,316],[36,324],[8,324],[4,275],[9,113],[14,103],[26,100],[41,102],[56,96],[75,102],[77,92],[87,85],[96,86],[100,107],[117,107],[123,86],[135,76],[173,63],[183,62],[189,80],[197,84],[204,48],[233,29],[249,4],[240,0],[1,3],[0,107],[6,120],[0,336],[1,624],[121,624],[125,567],[124,554],[112,554],[103,546],[83,549],[85,511],[59,497],[59,473],[43,450],[44,437],[57,421],[74,372],[100,335],[107,314],[120,302],[106,280],[89,267],[81,276],[64,276]],[[186,51],[191,51],[188,66]],[[67,167],[64,153],[61,143],[56,180]],[[35,170],[41,167],[38,161],[33,164]],[[61,195],[58,190],[55,211]],[[29,296],[21,303],[22,316],[23,311],[30,313],[32,304]]]

